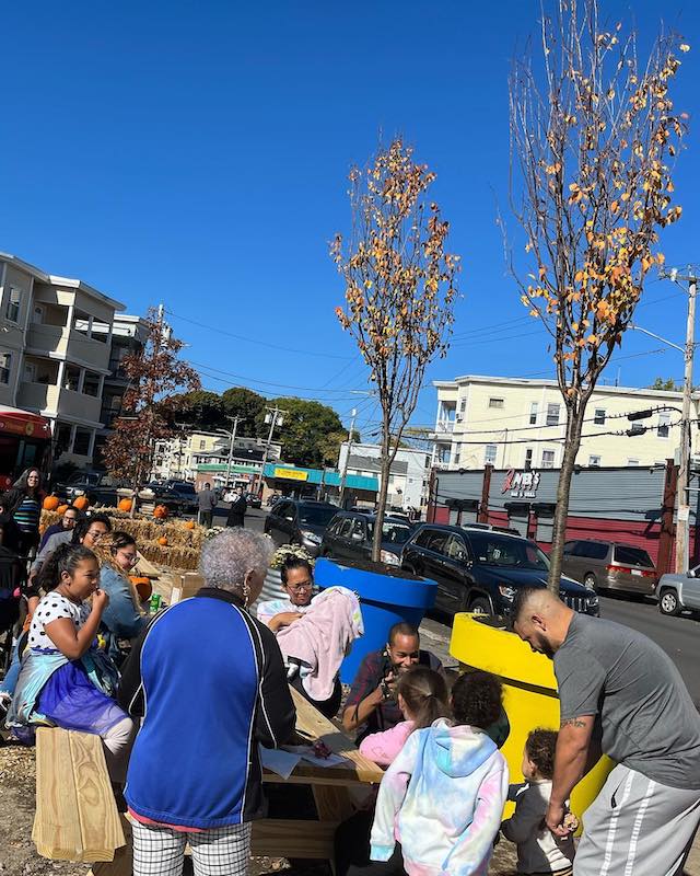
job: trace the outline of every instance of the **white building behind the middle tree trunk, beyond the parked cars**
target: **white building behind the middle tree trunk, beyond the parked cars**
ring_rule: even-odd
[[[350,456],[348,457],[348,449]],[[376,477],[382,488],[382,448],[380,445],[363,445],[343,441],[340,445],[338,471]],[[428,502],[430,477],[430,453],[424,450],[399,448],[389,472],[387,504],[395,508],[422,508]]]

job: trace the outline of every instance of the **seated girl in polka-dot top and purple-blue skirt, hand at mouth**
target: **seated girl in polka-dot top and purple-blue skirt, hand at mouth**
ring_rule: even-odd
[[[109,601],[97,558],[82,545],[61,544],[42,578],[54,589],[34,612],[8,726],[20,737],[18,730],[36,724],[97,734],[113,781],[124,782],[132,723],[110,695],[116,670],[94,647]]]

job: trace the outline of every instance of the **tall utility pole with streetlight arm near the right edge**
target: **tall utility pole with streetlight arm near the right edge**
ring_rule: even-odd
[[[688,272],[679,275],[676,268],[662,277],[668,277],[674,283],[682,280],[688,284],[688,321],[686,324],[686,347],[684,349],[685,370],[682,384],[682,414],[680,420],[680,464],[678,466],[678,511],[676,515],[676,573],[682,574],[688,568],[690,542],[690,502],[688,486],[690,480],[690,405],[692,403],[692,365],[696,350],[696,296],[698,291],[698,277]]]

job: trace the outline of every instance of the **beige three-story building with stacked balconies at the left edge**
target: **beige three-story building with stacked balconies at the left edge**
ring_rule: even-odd
[[[92,461],[117,310],[82,280],[0,253],[0,404],[47,417],[57,460]]]

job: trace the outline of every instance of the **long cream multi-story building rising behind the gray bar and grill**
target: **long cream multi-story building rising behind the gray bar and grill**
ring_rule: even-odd
[[[434,381],[438,417],[433,464],[443,469],[558,469],[564,446],[565,410],[553,380],[468,374]],[[578,464],[655,465],[674,458],[680,443],[678,392],[599,385],[586,411]],[[630,423],[628,414],[653,411]],[[698,397],[691,407],[693,445]],[[635,426],[643,434],[627,436]],[[696,454],[693,453],[693,458]]]

